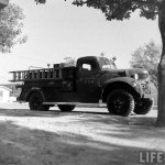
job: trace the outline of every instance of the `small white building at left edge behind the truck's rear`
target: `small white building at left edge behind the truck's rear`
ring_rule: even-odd
[[[8,102],[10,101],[10,94],[11,94],[12,89],[4,87],[4,86],[0,86],[0,102]]]

